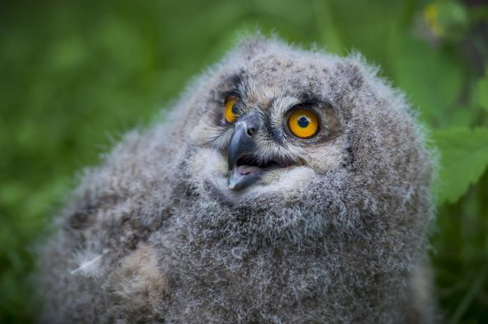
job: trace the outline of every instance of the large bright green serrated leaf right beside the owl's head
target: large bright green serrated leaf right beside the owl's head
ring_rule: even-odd
[[[488,166],[488,128],[438,130],[434,141],[441,154],[438,203],[455,203]]]

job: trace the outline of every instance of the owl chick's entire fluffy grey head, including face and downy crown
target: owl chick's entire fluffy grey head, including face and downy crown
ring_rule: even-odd
[[[403,95],[358,54],[252,38],[182,102],[175,130],[190,144],[181,179],[212,224],[317,237],[428,209],[422,132]]]

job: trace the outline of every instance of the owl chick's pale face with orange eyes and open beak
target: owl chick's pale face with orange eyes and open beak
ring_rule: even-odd
[[[324,93],[326,67],[264,54],[226,72],[192,134],[202,183],[227,201],[280,199],[342,167],[347,143]]]

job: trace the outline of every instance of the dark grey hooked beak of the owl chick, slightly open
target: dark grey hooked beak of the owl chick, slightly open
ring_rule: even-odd
[[[257,144],[254,139],[259,132],[259,116],[250,115],[242,118],[234,128],[229,145],[227,146],[227,164],[229,177],[227,187],[230,190],[240,190],[255,183],[264,171],[258,166],[247,165],[247,156],[254,156]]]

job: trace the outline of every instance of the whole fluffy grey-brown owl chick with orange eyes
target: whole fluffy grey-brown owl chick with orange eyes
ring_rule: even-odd
[[[432,155],[359,54],[242,40],[84,173],[44,323],[431,323]]]

